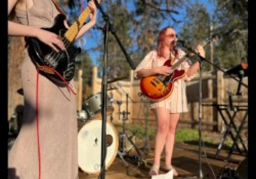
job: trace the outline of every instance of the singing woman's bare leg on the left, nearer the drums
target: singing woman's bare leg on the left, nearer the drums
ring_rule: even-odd
[[[169,126],[169,119],[170,113],[168,109],[157,107],[155,109],[155,115],[157,119],[157,135],[156,135],[156,143],[155,143],[155,160],[154,165],[160,166],[160,158],[161,153],[163,151],[163,147],[166,141],[167,133],[168,133],[168,126]]]

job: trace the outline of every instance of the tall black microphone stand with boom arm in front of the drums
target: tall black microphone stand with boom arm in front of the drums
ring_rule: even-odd
[[[104,34],[104,55],[103,55],[103,72],[102,72],[102,90],[101,90],[101,114],[102,114],[102,130],[101,130],[101,172],[100,172],[100,178],[105,178],[105,155],[106,155],[106,89],[107,89],[107,65],[108,65],[108,32],[110,31],[113,36],[115,37],[116,41],[118,42],[122,52],[124,53],[126,60],[129,62],[131,68],[135,70],[136,66],[134,65],[133,61],[131,60],[131,57],[127,54],[125,51],[120,39],[117,37],[115,31],[113,30],[112,24],[110,23],[110,17],[103,11],[101,6],[99,5],[97,0],[93,0],[96,7],[100,10],[100,12],[103,15],[103,19],[105,21],[104,28],[98,28],[100,29]]]

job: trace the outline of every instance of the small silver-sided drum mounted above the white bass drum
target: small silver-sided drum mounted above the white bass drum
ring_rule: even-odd
[[[92,118],[102,118],[101,116],[101,92],[89,97],[83,104],[83,108],[87,110],[89,116]],[[109,116],[114,111],[109,96],[106,96],[106,116]]]

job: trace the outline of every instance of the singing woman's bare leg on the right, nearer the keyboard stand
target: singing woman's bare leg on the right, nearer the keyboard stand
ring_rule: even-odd
[[[172,167],[172,155],[175,142],[175,132],[180,118],[179,113],[170,114],[169,130],[167,132],[167,138],[165,143],[165,166],[166,168]],[[178,175],[177,172],[174,172],[174,176]]]

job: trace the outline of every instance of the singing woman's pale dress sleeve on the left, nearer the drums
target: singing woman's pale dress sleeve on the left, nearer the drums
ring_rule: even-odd
[[[137,78],[138,71],[142,69],[152,69],[154,61],[156,61],[156,51],[151,51],[138,64],[137,68],[134,71],[134,77]]]

